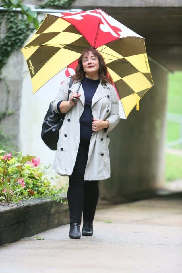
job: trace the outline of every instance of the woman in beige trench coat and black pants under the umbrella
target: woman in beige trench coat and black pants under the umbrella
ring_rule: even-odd
[[[79,239],[82,212],[82,235],[93,234],[98,181],[110,177],[107,133],[119,122],[119,106],[104,59],[95,49],[82,52],[72,77],[69,100],[70,78],[67,78],[52,102],[56,113],[65,113],[53,169],[59,175],[69,176],[69,237]]]

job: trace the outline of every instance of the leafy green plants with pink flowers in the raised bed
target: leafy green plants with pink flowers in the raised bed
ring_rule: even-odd
[[[4,152],[0,151],[1,202],[19,202],[28,198],[48,198],[63,202],[60,193],[65,192],[65,189],[62,187],[56,190],[55,186],[51,185],[45,175],[47,167],[38,166],[40,158],[22,156],[19,152],[13,157],[11,153]]]

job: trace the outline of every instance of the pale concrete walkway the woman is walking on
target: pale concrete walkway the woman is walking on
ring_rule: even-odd
[[[181,193],[98,208],[92,237],[65,225],[0,247],[1,272],[181,272]]]

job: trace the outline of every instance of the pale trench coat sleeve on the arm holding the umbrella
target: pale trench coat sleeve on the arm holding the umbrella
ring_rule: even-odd
[[[59,92],[57,93],[55,99],[51,102],[54,112],[60,113],[57,110],[57,104],[60,100],[67,101],[68,99],[68,88],[69,88],[70,77],[66,78],[64,82],[61,84]]]

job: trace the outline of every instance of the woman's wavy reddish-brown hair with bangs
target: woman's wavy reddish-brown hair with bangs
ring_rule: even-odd
[[[102,55],[94,48],[88,48],[82,52],[82,55],[78,59],[78,65],[75,69],[76,74],[72,76],[73,81],[81,82],[83,80],[83,78],[85,76],[85,72],[83,71],[82,59],[85,54],[86,54],[86,56],[88,56],[88,53],[90,51],[92,52],[92,54],[94,56],[98,57],[98,59],[99,59],[98,76],[99,76],[99,79],[101,80],[102,84],[105,85],[106,82],[113,84],[113,79],[111,78],[111,76],[109,75],[109,73],[107,71],[106,63],[104,62]]]

